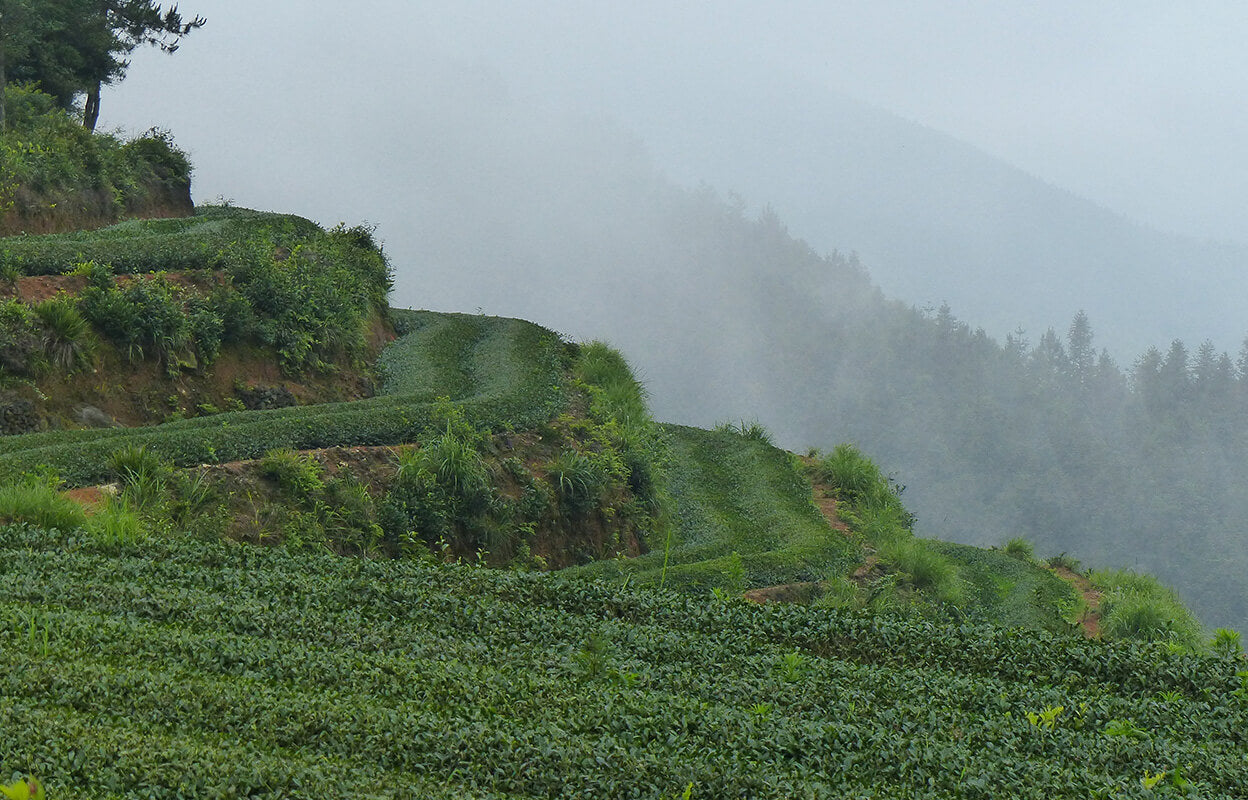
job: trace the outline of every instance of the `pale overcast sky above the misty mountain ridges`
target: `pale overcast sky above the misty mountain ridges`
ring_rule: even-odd
[[[317,149],[348,140],[369,119],[401,119],[422,71],[458,61],[535,104],[612,115],[684,181],[735,188],[664,163],[665,109],[696,104],[700,86],[792,80],[951,134],[1139,221],[1248,240],[1248,4],[181,7],[208,25],[173,56],[136,54],[131,76],[105,97],[102,122],[172,129],[196,156],[201,200],[272,197],[261,182],[308,168],[306,159],[332,159]],[[290,141],[292,129],[303,129],[305,141]],[[331,205],[322,198],[303,210],[333,216]]]

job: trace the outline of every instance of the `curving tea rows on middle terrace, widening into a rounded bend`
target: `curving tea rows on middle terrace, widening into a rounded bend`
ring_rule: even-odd
[[[351,403],[197,417],[150,428],[52,431],[0,439],[0,480],[40,468],[71,485],[107,479],[107,459],[127,446],[145,446],[175,464],[258,458],[272,448],[310,449],[398,444],[419,439],[436,423],[434,399],[447,394],[467,419],[483,428],[535,426],[565,402],[565,347],[558,336],[518,320],[426,313],[393,343],[386,363],[403,372],[382,394]],[[448,358],[447,354],[453,354]],[[462,364],[462,366],[461,366]],[[443,383],[447,369],[467,371]],[[424,381],[411,376],[423,374]]]

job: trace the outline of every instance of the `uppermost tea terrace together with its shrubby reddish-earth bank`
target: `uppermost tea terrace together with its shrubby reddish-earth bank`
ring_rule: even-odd
[[[363,397],[393,336],[368,230],[282,215],[7,237],[0,276],[5,433]]]

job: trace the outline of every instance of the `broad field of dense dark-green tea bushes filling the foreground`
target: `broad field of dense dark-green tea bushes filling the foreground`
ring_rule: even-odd
[[[195,542],[105,552],[16,527],[0,555],[0,708],[21,720],[0,763],[54,796],[1177,796],[1176,768],[1199,796],[1234,796],[1248,781],[1236,665],[1164,648]]]

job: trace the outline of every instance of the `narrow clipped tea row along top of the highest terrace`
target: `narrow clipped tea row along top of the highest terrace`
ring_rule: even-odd
[[[321,230],[292,215],[203,206],[182,220],[130,220],[99,231],[0,238],[0,272],[65,275],[95,261],[115,273],[226,270],[257,253],[293,250]]]

